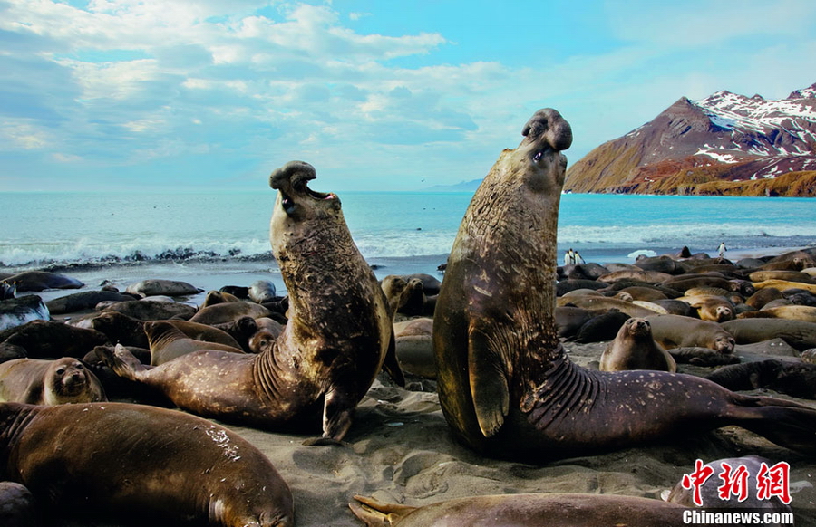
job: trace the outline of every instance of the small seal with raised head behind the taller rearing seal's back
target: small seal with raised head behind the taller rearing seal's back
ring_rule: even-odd
[[[652,329],[646,319],[627,320],[601,354],[601,371],[627,369],[677,371],[675,359],[652,339]]]

